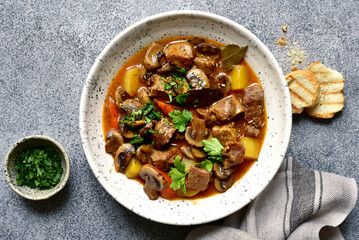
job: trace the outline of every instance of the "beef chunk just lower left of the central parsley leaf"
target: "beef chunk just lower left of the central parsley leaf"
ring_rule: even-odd
[[[155,143],[154,147],[156,149],[161,149],[171,140],[175,131],[176,128],[173,123],[167,118],[162,118],[161,121],[158,121],[155,125],[154,133],[152,133],[151,136]]]

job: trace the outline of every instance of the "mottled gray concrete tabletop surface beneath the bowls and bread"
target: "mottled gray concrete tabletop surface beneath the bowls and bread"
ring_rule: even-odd
[[[96,56],[121,30],[163,11],[194,9],[234,20],[256,34],[288,72],[284,36],[314,61],[340,71],[345,108],[331,120],[293,119],[287,155],[302,165],[359,180],[359,4],[349,1],[11,1],[0,3],[0,159],[23,136],[61,142],[71,159],[66,188],[40,202],[25,200],[0,171],[0,239],[183,239],[193,226],[154,223],[122,207],[91,172],[78,131],[83,84]],[[358,205],[340,226],[359,239]],[[219,221],[220,223],[220,221]]]

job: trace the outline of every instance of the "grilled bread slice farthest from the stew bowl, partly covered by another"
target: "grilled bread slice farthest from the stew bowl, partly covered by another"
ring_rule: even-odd
[[[315,118],[332,118],[344,107],[345,98],[342,90],[345,82],[343,75],[327,68],[320,62],[311,64],[307,70],[317,77],[320,83],[320,93],[318,103],[305,109],[305,112]]]

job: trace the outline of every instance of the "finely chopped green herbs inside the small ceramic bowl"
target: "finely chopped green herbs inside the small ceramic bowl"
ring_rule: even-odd
[[[63,173],[60,156],[53,148],[33,148],[21,153],[15,170],[17,185],[41,190],[55,187]]]

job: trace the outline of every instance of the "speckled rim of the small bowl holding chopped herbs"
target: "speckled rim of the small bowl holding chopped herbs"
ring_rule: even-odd
[[[24,142],[26,142],[28,140],[31,140],[31,139],[42,139],[42,140],[45,140],[45,141],[52,142],[61,151],[61,153],[62,153],[62,155],[64,157],[64,160],[65,160],[65,164],[66,164],[66,169],[65,169],[65,171],[63,173],[64,175],[61,176],[60,182],[58,183],[58,185],[55,186],[56,189],[53,188],[53,189],[49,189],[49,190],[41,190],[41,191],[44,191],[43,193],[47,193],[47,194],[39,195],[37,197],[31,196],[31,195],[28,195],[28,194],[25,194],[25,193],[19,191],[18,188],[22,188],[22,187],[26,187],[26,186],[15,186],[15,185],[13,185],[12,182],[11,182],[11,178],[9,177],[9,174],[8,174],[8,171],[9,171],[8,170],[8,162],[9,162],[10,154],[20,144],[23,144]],[[66,153],[65,148],[59,142],[57,142],[55,139],[53,139],[51,137],[48,137],[48,136],[44,136],[44,135],[32,135],[32,136],[27,136],[27,137],[24,137],[24,138],[18,140],[17,142],[15,142],[10,147],[9,151],[7,152],[7,154],[5,156],[5,160],[4,160],[4,174],[5,174],[6,182],[9,184],[10,188],[14,192],[16,192],[20,196],[22,196],[22,197],[24,197],[26,199],[29,199],[29,200],[45,200],[45,199],[48,199],[48,198],[54,196],[56,193],[58,193],[59,191],[61,191],[65,187],[65,185],[66,185],[66,183],[67,183],[67,181],[69,180],[69,177],[70,177],[70,171],[71,171],[70,170],[70,159],[69,159],[69,156]]]

